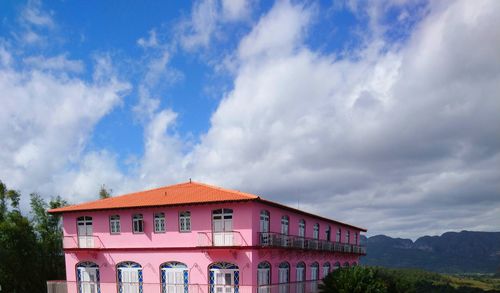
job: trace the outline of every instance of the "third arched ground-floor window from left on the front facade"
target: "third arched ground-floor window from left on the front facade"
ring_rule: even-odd
[[[171,261],[160,266],[162,293],[187,293],[189,291],[189,270],[187,265]]]

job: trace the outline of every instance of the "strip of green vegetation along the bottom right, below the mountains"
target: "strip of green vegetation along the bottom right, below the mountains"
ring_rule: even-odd
[[[335,270],[320,285],[320,291],[432,293],[432,292],[500,292],[500,279],[491,277],[458,277],[415,269],[352,267]]]

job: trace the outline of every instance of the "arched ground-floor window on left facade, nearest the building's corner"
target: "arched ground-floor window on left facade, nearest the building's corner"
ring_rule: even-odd
[[[210,293],[238,293],[240,270],[228,262],[216,262],[208,267]]]

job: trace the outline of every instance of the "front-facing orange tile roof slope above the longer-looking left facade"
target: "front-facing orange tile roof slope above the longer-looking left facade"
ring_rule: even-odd
[[[253,194],[224,189],[197,182],[186,182],[129,193],[121,196],[51,209],[50,213],[104,210],[135,207],[169,206],[183,204],[249,201],[259,197]]]

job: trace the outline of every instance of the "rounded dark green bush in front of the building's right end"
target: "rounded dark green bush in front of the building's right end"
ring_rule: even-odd
[[[322,293],[385,293],[384,282],[374,268],[355,266],[333,271],[319,285]]]

